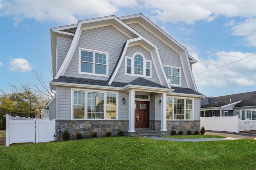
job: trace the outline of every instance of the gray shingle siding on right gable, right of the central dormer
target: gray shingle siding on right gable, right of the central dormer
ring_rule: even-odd
[[[181,68],[181,87],[188,88],[188,85],[186,83],[186,79],[184,76],[184,72],[182,69],[182,64],[180,61],[180,55],[176,53],[176,51],[168,47],[165,43],[163,43],[160,39],[158,39],[152,33],[144,29],[140,24],[132,23],[129,26],[135,29],[136,31],[138,31],[138,33],[143,35],[146,39],[148,39],[158,47],[159,54],[161,56],[161,60],[163,64]]]

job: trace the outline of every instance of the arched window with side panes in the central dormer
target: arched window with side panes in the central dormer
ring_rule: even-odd
[[[126,56],[126,75],[151,77],[151,61],[146,60],[141,53],[133,57]]]

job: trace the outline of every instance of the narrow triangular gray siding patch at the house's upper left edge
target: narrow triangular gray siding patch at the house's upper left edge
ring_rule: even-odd
[[[60,68],[60,65],[64,61],[66,54],[68,53],[68,49],[70,47],[71,42],[72,42],[72,37],[64,37],[64,36],[58,35],[57,70]]]

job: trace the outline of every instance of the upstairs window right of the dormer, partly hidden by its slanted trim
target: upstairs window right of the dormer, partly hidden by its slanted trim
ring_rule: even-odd
[[[180,85],[180,68],[164,65],[168,82],[172,85]]]

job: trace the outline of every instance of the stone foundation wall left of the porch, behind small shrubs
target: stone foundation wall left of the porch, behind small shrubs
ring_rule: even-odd
[[[90,138],[91,133],[97,137],[104,137],[106,131],[111,131],[116,136],[118,131],[128,131],[129,121],[66,121],[56,120],[56,141],[62,140],[62,132],[70,133],[70,139],[76,139],[76,133],[82,133],[83,138]],[[60,138],[59,138],[60,137]]]

